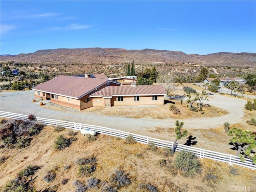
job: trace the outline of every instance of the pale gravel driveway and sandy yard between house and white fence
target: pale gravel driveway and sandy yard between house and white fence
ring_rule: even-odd
[[[181,118],[172,118],[168,110],[169,104],[164,106],[114,106],[111,108],[88,108],[77,111],[52,103],[40,106],[40,101],[33,103],[33,99],[34,91],[0,92],[0,110],[104,126],[170,141],[175,139],[175,122],[180,120],[184,122],[183,127],[188,130],[188,135],[196,137],[194,140],[197,141],[195,147],[228,154],[235,154],[235,152],[230,150],[231,146],[228,146],[230,138],[224,132],[223,123],[246,124],[245,122],[249,118],[244,113],[246,100],[217,93],[209,95],[209,101],[203,101],[204,104],[216,106],[227,111],[227,114],[215,117],[202,115],[186,117],[181,115]],[[186,107],[186,104],[183,107]],[[148,115],[151,112],[155,114],[156,118]],[[130,117],[127,115],[127,117],[126,114],[132,115]],[[178,140],[178,143],[184,144],[186,140],[186,138],[183,138]],[[218,145],[216,145],[216,142],[218,142]]]

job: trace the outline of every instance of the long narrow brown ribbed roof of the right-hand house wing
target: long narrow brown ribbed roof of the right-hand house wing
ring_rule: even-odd
[[[165,95],[166,91],[162,85],[138,85],[132,86],[107,86],[93,94],[90,97],[102,96],[136,96],[136,95]]]

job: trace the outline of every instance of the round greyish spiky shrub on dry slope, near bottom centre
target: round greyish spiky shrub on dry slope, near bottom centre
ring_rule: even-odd
[[[131,184],[129,173],[126,173],[124,170],[115,170],[114,172],[115,173],[110,176],[110,181],[117,189]]]

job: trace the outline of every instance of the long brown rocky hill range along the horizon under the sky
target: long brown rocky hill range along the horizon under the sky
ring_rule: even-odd
[[[193,63],[205,66],[256,66],[256,53],[220,52],[208,55],[185,54],[168,50],[126,50],[118,48],[78,48],[38,50],[34,53],[4,55],[2,62],[122,64],[135,60],[144,63]]]

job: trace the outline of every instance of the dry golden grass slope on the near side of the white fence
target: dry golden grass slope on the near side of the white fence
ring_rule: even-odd
[[[164,131],[161,127],[156,131]],[[201,131],[201,130],[200,130]],[[205,130],[204,130],[205,131]],[[211,130],[209,134],[221,133],[222,130]],[[68,134],[68,130],[62,132],[64,135]],[[169,190],[180,191],[194,191],[196,186],[204,188],[205,191],[212,191],[206,183],[202,183],[202,176],[207,166],[214,166],[216,172],[220,177],[220,183],[216,187],[216,191],[228,191],[230,186],[243,185],[251,186],[252,191],[256,190],[252,186],[253,181],[256,179],[256,172],[252,170],[234,166],[238,168],[240,175],[234,176],[229,174],[228,164],[218,163],[210,160],[201,160],[204,170],[202,174],[196,178],[184,178],[180,174],[176,176],[172,174],[170,162],[174,157],[164,156],[164,149],[158,148],[155,152],[147,150],[147,145],[144,144],[125,144],[125,140],[116,140],[112,136],[99,135],[97,140],[92,143],[84,143],[84,138],[78,134],[78,140],[73,142],[69,148],[62,151],[54,151],[54,140],[58,133],[53,132],[53,128],[46,126],[42,132],[35,136],[32,140],[30,148],[26,149],[0,149],[3,156],[8,156],[8,159],[0,165],[0,187],[8,180],[15,178],[20,170],[28,164],[36,164],[41,168],[34,175],[34,186],[37,190],[49,188],[51,186],[58,186],[58,191],[68,192],[74,191],[75,187],[72,182],[76,179],[86,184],[87,177],[79,178],[77,176],[78,165],[75,163],[76,159],[84,156],[96,156],[97,164],[96,171],[93,177],[101,180],[110,181],[110,174],[116,169],[122,169],[130,173],[131,184],[127,187],[121,188],[120,192],[139,192],[139,185],[141,183],[150,183],[156,186],[162,192]],[[67,155],[68,154],[68,155]],[[165,158],[166,166],[160,166],[159,160]],[[70,168],[65,169],[66,166]],[[168,166],[167,166],[168,165]],[[55,170],[56,178],[51,183],[44,182],[43,176],[48,170]],[[67,183],[63,186],[62,180],[69,178]],[[246,180],[244,179],[246,178]],[[90,189],[92,191],[100,191]]]

